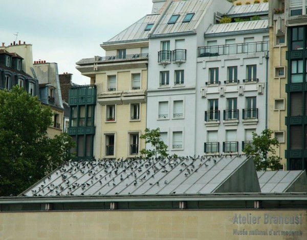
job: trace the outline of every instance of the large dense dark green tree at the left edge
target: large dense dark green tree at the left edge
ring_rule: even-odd
[[[46,136],[52,115],[19,86],[0,91],[0,195],[17,195],[70,160],[71,137]]]

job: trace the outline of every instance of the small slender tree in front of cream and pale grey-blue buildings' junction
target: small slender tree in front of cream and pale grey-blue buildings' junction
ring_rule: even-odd
[[[160,128],[156,129],[145,129],[145,134],[141,135],[141,139],[145,139],[145,143],[150,143],[153,149],[142,149],[140,152],[146,157],[151,158],[158,155],[161,157],[168,157],[167,145],[160,138]]]

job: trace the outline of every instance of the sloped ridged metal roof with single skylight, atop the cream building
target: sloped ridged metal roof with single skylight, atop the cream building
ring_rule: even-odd
[[[124,31],[112,37],[104,43],[112,43],[117,41],[129,41],[138,39],[147,39],[150,31],[145,31],[147,24],[154,24],[160,14],[148,14],[142,17],[133,25],[126,28]]]

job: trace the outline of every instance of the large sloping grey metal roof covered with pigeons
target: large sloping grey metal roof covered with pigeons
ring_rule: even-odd
[[[22,195],[113,197],[259,191],[253,159],[238,155],[68,162]]]

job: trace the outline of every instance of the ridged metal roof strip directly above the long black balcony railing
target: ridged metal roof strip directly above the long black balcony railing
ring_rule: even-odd
[[[229,24],[214,24],[209,26],[208,30],[205,32],[205,35],[259,30],[267,28],[268,28],[268,19],[255,20],[255,21],[241,21],[239,23],[229,23]]]

